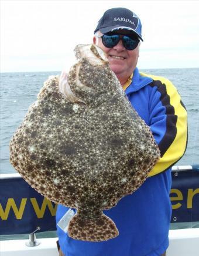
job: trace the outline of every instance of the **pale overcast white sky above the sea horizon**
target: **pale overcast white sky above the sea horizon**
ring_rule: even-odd
[[[0,0],[0,71],[68,70],[109,8],[139,16],[138,68],[199,68],[199,1]]]

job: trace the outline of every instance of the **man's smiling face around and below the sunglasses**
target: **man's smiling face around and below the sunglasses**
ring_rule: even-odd
[[[99,32],[99,36],[101,35],[103,34]],[[94,37],[93,42],[96,43],[96,41],[97,39]],[[97,46],[107,53],[108,62],[116,76],[126,77],[126,79],[131,76],[138,63],[139,44],[134,50],[126,50],[122,40],[119,40],[118,44],[113,48],[107,48],[103,45],[102,39],[98,38]]]

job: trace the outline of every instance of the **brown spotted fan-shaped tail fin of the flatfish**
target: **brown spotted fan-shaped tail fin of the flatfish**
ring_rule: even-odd
[[[114,221],[103,213],[98,218],[82,218],[77,213],[71,218],[67,232],[71,238],[92,242],[109,240],[119,234]]]

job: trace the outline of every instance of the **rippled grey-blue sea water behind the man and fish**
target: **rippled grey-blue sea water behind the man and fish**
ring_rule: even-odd
[[[181,95],[188,113],[188,144],[184,156],[177,165],[199,164],[199,68],[194,69],[147,69],[140,70],[150,75],[164,76],[171,80]],[[60,72],[1,73],[0,105],[0,173],[16,173],[9,163],[9,141],[22,123],[28,107],[36,101],[43,82]],[[180,228],[187,227],[182,224]],[[198,225],[198,223],[196,224]],[[52,237],[56,233],[44,233]],[[37,235],[41,237],[42,234]],[[7,236],[1,236],[0,240]],[[8,239],[13,239],[9,236]],[[14,238],[18,238],[16,236]],[[20,239],[28,238],[20,235]]]

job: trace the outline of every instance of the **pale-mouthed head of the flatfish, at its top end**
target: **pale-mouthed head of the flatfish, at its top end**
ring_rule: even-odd
[[[115,84],[116,76],[109,66],[107,54],[98,46],[77,45],[74,52],[77,63],[68,72],[67,83],[61,91],[73,103],[90,105],[110,90],[107,86]]]

